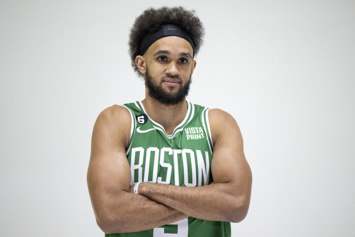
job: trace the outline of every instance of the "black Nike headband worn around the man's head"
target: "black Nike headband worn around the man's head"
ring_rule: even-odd
[[[149,46],[151,46],[155,41],[166,36],[178,36],[183,39],[186,39],[191,44],[193,53],[195,53],[195,47],[193,46],[193,42],[189,34],[187,34],[183,29],[181,29],[178,26],[163,25],[160,27],[160,29],[157,32],[149,33],[143,37],[141,43],[140,55],[143,55],[147,51]]]

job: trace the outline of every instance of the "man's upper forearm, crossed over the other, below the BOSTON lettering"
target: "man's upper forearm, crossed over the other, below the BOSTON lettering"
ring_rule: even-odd
[[[188,216],[204,220],[239,222],[249,208],[249,199],[236,193],[230,183],[201,187],[142,183],[139,193]]]

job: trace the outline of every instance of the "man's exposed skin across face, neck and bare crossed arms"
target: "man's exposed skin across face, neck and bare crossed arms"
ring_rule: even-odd
[[[142,73],[148,66],[155,82],[175,93],[196,67],[196,61],[189,57],[192,53],[185,39],[169,36],[155,41],[143,56],[137,56],[136,64]],[[178,82],[166,83],[169,78]],[[187,113],[185,99],[175,105],[161,104],[149,97],[147,88],[142,103],[148,116],[161,124],[168,135]],[[148,230],[188,216],[231,222],[245,218],[252,176],[239,127],[230,114],[220,109],[209,110],[208,117],[214,144],[214,182],[201,187],[141,183],[137,195],[130,186],[131,171],[125,152],[130,139],[130,114],[121,106],[111,106],[99,114],[93,129],[87,182],[98,226],[105,233]]]

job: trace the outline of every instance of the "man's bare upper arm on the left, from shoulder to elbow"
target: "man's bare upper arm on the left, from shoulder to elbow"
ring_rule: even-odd
[[[103,111],[94,125],[87,183],[95,213],[120,192],[129,192],[131,173],[125,146],[131,122],[126,112],[121,108]]]

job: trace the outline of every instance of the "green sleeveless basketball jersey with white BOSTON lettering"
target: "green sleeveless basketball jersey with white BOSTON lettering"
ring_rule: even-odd
[[[187,102],[185,119],[167,135],[162,125],[150,119],[142,102],[125,104],[132,119],[126,149],[131,167],[131,185],[138,182],[196,187],[213,182],[212,139],[208,109]],[[105,237],[215,237],[230,236],[230,222],[188,217],[151,230],[106,234]]]

